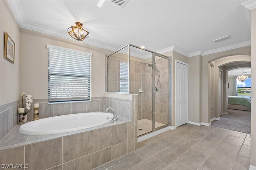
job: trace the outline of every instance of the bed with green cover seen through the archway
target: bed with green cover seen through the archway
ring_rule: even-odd
[[[251,111],[251,98],[249,96],[228,96],[228,109]]]

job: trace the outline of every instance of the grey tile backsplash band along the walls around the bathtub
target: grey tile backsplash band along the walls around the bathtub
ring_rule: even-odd
[[[91,101],[73,103],[48,104],[48,99],[33,99],[33,103],[39,103],[39,118],[54,117],[75,113],[88,113],[105,111],[112,107],[116,114],[128,120],[134,120],[132,100],[117,99],[112,97],[92,97]],[[33,103],[28,113],[28,120],[33,119]],[[21,101],[15,101],[0,106],[0,140],[2,140],[18,124],[18,108]]]

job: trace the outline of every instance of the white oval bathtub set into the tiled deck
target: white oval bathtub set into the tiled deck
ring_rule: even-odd
[[[25,123],[19,128],[22,134],[58,134],[96,127],[110,122],[112,113],[77,113],[48,117]]]

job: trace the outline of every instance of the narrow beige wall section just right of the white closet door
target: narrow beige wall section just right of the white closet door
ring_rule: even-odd
[[[201,60],[202,56],[188,58],[189,63],[189,121],[201,122]]]

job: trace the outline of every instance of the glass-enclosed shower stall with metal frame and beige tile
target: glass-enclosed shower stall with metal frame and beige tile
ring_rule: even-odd
[[[106,57],[106,91],[138,94],[138,136],[170,125],[172,57],[128,44]]]

